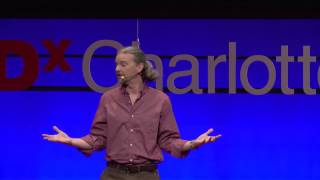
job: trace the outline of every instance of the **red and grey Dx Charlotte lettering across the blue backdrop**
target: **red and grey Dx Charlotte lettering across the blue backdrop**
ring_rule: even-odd
[[[52,71],[56,66],[59,66],[62,71],[70,71],[71,66],[68,64],[64,57],[64,52],[70,45],[71,41],[62,40],[58,45],[53,44],[52,41],[43,41],[44,46],[48,49],[51,54],[51,58],[45,66],[45,71]],[[133,45],[138,45],[137,42],[132,42]],[[226,63],[228,66],[228,92],[229,94],[236,94],[236,42],[229,42],[228,44],[228,55],[223,54],[219,56],[208,56],[208,93],[216,93],[215,87],[215,71],[217,65],[221,63]],[[114,40],[98,40],[86,49],[82,61],[82,71],[83,77],[87,85],[96,92],[104,92],[111,87],[104,87],[97,84],[93,77],[90,68],[91,61],[93,59],[94,53],[97,49],[102,47],[111,47],[116,50],[123,48],[124,46]],[[294,61],[294,56],[289,56],[288,46],[281,46],[281,55],[276,56],[276,62],[280,63],[281,66],[281,91],[283,94],[292,95],[295,93],[293,88],[289,87],[289,63],[302,63],[303,68],[303,91],[305,94],[314,95],[316,94],[316,89],[310,86],[310,65],[316,62],[316,57],[310,55],[310,46],[303,46],[302,56],[298,56],[298,62]],[[6,77],[6,57],[9,54],[15,54],[22,57],[24,61],[23,72],[19,77],[7,78]],[[159,78],[156,81],[156,88],[163,89],[163,64],[159,56],[155,54],[146,54],[148,61],[153,62],[155,69],[159,73]],[[195,56],[190,54],[178,54],[170,59],[169,67],[175,67],[178,62],[187,61],[191,64],[191,69],[184,71],[174,71],[169,74],[166,82],[168,90],[175,94],[184,94],[188,92],[193,92],[195,94],[202,94],[203,89],[199,88],[199,63]],[[265,65],[268,71],[268,80],[261,88],[253,87],[250,84],[248,71],[250,66],[254,62],[260,62]],[[24,90],[33,85],[38,77],[39,73],[39,60],[36,49],[29,43],[25,41],[17,40],[0,40],[0,90]],[[276,80],[276,68],[274,62],[267,56],[264,55],[252,55],[247,57],[240,68],[240,80],[243,88],[250,94],[263,95],[273,88]],[[191,82],[186,87],[176,87],[175,79],[181,77],[191,77]],[[320,86],[320,68],[317,70],[317,81]]]

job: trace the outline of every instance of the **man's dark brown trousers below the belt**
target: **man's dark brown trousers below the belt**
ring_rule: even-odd
[[[100,180],[160,180],[160,176],[158,170],[128,173],[120,169],[106,167],[100,176]]]

